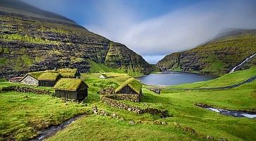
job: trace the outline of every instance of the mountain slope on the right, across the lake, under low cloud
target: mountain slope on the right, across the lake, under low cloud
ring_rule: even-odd
[[[233,67],[256,53],[256,30],[230,30],[221,33],[206,44],[181,52],[178,57],[178,66],[173,64],[177,60],[176,53],[169,54],[157,63],[159,68],[181,69],[181,71],[223,75],[231,71]],[[237,70],[243,70],[256,66],[255,57]]]

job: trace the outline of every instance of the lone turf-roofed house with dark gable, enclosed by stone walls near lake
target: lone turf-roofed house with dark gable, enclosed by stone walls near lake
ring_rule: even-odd
[[[142,100],[142,84],[135,78],[130,78],[123,82],[116,90],[116,94],[122,94],[123,97],[136,97],[135,102],[140,102]]]

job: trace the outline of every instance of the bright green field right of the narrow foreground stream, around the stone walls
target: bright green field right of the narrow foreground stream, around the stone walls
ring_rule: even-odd
[[[176,90],[163,91],[159,95],[150,90],[143,89],[144,96],[142,102],[126,102],[140,107],[150,106],[158,109],[167,109],[169,114],[173,115],[173,117],[159,119],[158,116],[150,114],[139,116],[138,114],[112,108],[99,102],[99,95],[96,92],[96,90],[99,90],[99,87],[105,87],[106,85],[104,84],[119,85],[129,76],[109,73],[109,75],[116,75],[116,77],[102,80],[99,86],[94,85],[101,81],[97,78],[98,75],[83,75],[83,79],[90,85],[90,95],[86,103],[91,106],[97,105],[99,109],[104,109],[108,112],[114,112],[118,116],[125,118],[125,121],[101,116],[87,116],[73,123],[49,140],[181,140],[181,138],[183,140],[203,140],[207,135],[211,135],[216,140],[222,137],[227,140],[256,140],[256,135],[254,134],[256,130],[255,119],[223,116],[195,106],[196,103],[205,103],[224,109],[255,109],[256,81],[231,90]],[[120,77],[120,80],[118,77]],[[131,120],[135,122],[150,122],[150,124],[138,123],[129,125],[128,122]],[[153,125],[154,120],[166,121],[168,125]],[[193,128],[197,135],[190,135],[190,133],[175,128],[174,122],[179,123],[183,127]]]

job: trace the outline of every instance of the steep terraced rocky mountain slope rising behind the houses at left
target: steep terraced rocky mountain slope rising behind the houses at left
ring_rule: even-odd
[[[152,71],[149,63],[125,45],[73,20],[22,1],[6,1],[0,0],[0,78],[54,67],[78,68],[83,73],[90,69],[88,59],[124,71]]]

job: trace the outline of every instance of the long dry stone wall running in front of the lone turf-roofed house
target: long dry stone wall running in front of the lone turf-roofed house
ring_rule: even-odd
[[[133,113],[136,113],[136,114],[149,113],[152,115],[159,115],[161,118],[166,118],[169,116],[167,110],[161,111],[159,109],[154,109],[154,108],[142,109],[138,106],[131,106],[131,105],[125,104],[123,102],[118,102],[118,101],[111,99],[109,97],[106,97],[106,96],[102,96],[102,97],[100,97],[100,99],[102,102],[104,102],[105,104],[108,104],[109,106],[114,106],[119,109],[125,109],[128,111],[132,111]]]

